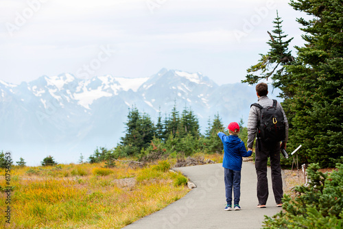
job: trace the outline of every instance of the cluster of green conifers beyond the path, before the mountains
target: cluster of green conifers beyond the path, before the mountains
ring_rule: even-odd
[[[89,162],[99,162],[106,158],[137,156],[139,159],[156,159],[161,156],[191,156],[197,152],[206,154],[222,153],[223,144],[217,132],[224,132],[224,124],[219,114],[209,117],[204,134],[200,133],[198,117],[191,108],[185,107],[182,112],[172,108],[163,118],[161,112],[154,123],[149,115],[132,106],[128,110],[125,136],[113,150],[100,147],[89,157]],[[228,124],[228,123],[227,123]],[[248,132],[239,122],[239,137],[246,142]],[[228,134],[228,132],[226,132]]]

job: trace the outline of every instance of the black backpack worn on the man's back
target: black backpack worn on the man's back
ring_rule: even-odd
[[[251,104],[251,106],[257,106],[261,110],[259,123],[257,124],[257,137],[263,141],[285,140],[286,123],[283,112],[276,107],[276,104],[275,99],[273,99],[273,105],[266,108],[263,108],[260,104]]]

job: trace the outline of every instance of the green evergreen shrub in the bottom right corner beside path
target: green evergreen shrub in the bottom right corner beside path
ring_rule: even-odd
[[[343,165],[338,171],[318,171],[319,164],[307,170],[308,186],[296,186],[294,200],[283,197],[283,210],[273,217],[265,217],[265,228],[342,228],[343,226]]]

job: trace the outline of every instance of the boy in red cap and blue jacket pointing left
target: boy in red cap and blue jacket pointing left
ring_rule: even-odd
[[[224,210],[232,209],[233,193],[234,209],[241,210],[239,206],[239,198],[241,196],[241,162],[242,157],[251,156],[252,151],[246,152],[244,142],[238,138],[239,125],[232,122],[228,125],[228,132],[230,136],[226,136],[223,132],[218,132],[218,136],[222,139],[224,145],[224,181],[226,193],[226,207]]]

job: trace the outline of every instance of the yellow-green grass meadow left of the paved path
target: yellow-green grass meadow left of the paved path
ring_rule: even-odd
[[[1,228],[122,228],[189,191],[174,185],[177,176],[165,169],[166,162],[143,169],[117,164],[13,167],[11,223],[5,222],[8,204],[2,201]],[[7,186],[5,171],[0,173],[0,185]]]

